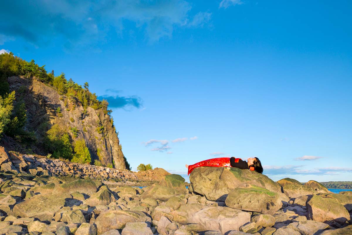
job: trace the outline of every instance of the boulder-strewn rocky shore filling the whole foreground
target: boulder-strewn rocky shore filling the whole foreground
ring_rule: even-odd
[[[148,172],[103,172],[34,156],[15,161],[4,152],[0,234],[352,234],[352,192],[330,193],[313,180],[274,182],[248,170],[200,167],[186,189],[180,175],[157,181]],[[143,189],[127,185],[147,178],[157,183]]]

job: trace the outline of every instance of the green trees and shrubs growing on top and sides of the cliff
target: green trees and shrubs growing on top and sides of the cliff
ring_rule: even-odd
[[[48,157],[62,158],[79,163],[91,163],[89,149],[84,140],[72,140],[67,130],[63,130],[58,125],[43,123],[39,129],[44,130],[44,138],[38,140],[34,131],[25,130],[27,122],[26,107],[24,98],[26,88],[20,87],[18,93],[10,91],[10,85],[7,78],[10,76],[25,76],[28,79],[35,77],[44,84],[54,88],[59,94],[67,97],[64,100],[65,106],[68,106],[68,100],[75,105],[82,105],[83,115],[87,115],[87,108],[90,106],[95,110],[101,109],[109,116],[111,123],[111,110],[107,110],[108,102],[98,100],[95,93],[89,91],[89,84],[85,82],[83,87],[75,83],[72,79],[67,80],[65,74],[54,75],[54,70],[48,73],[44,66],[38,66],[31,60],[27,62],[20,57],[14,56],[12,52],[0,54],[0,139],[3,135],[12,137],[17,143],[22,144],[25,148],[31,144],[42,144],[49,153]],[[69,109],[68,109],[69,111]],[[61,109],[57,108],[57,116],[62,116]],[[71,120],[73,122],[74,120]],[[98,130],[99,128],[99,130]],[[97,127],[97,131],[102,132],[102,126]],[[114,130],[115,127],[113,126]],[[71,128],[71,134],[77,137],[77,129]],[[115,133],[118,135],[118,132]],[[99,149],[98,149],[99,156]],[[125,165],[130,169],[126,158]],[[99,160],[94,161],[95,165],[100,165]],[[114,163],[113,163],[114,164]],[[108,165],[108,167],[113,167]]]

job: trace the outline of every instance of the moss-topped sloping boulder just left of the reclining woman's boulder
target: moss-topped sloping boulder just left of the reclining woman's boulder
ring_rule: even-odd
[[[171,197],[186,193],[186,185],[181,175],[166,175],[158,184],[146,188],[141,198],[154,198],[164,202]]]

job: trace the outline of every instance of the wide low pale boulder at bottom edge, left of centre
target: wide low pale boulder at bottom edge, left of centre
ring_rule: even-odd
[[[151,222],[151,219],[140,211],[107,210],[95,220],[98,235],[111,229],[123,229],[129,222]]]

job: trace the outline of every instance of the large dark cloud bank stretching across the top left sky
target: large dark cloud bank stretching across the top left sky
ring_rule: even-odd
[[[64,47],[108,43],[111,30],[121,35],[130,31],[144,31],[151,42],[171,37],[175,27],[203,26],[211,13],[190,14],[191,4],[185,0],[169,1],[54,1],[38,0],[4,2],[0,8],[6,22],[0,24],[0,43],[13,38],[24,38],[34,45],[50,45],[61,40]],[[21,17],[18,17],[21,12]],[[126,28],[127,24],[135,28]],[[43,30],[45,29],[45,30]]]

